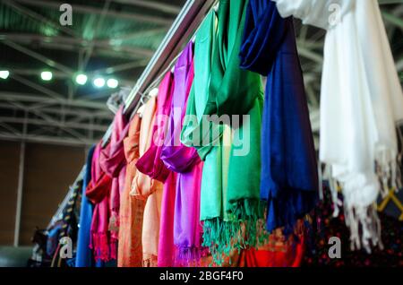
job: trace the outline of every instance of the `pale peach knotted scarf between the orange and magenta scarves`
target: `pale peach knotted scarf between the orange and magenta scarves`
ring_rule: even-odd
[[[156,103],[157,99],[152,97],[144,105],[139,138],[140,157],[150,148]],[[158,180],[154,180],[140,171],[137,171],[136,176],[133,177],[130,194],[137,199],[146,200],[141,233],[143,266],[146,267],[157,266],[162,186]]]

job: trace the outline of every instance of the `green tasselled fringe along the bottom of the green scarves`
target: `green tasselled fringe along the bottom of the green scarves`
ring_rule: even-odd
[[[228,220],[216,217],[204,220],[203,244],[210,249],[214,263],[221,265],[232,249],[264,244],[269,234],[265,230],[265,203],[259,199],[242,199],[231,203]]]

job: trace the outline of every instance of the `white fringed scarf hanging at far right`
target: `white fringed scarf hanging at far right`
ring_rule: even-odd
[[[320,159],[342,187],[352,248],[364,246],[369,252],[371,244],[382,246],[374,204],[378,194],[399,187],[395,124],[403,119],[402,90],[378,3],[338,0],[339,17],[331,22],[334,1],[276,2],[282,16],[295,14],[327,30]]]

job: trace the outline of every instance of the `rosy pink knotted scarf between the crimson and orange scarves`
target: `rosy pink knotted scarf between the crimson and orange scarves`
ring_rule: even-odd
[[[109,197],[110,216],[107,217],[110,231],[110,244],[112,246],[111,258],[116,259],[117,239],[119,235],[119,205],[120,194],[124,189],[125,165],[124,138],[127,135],[128,124],[123,114],[123,106],[116,112],[113,122],[112,134],[107,148],[100,152],[100,167],[112,177],[112,187]]]

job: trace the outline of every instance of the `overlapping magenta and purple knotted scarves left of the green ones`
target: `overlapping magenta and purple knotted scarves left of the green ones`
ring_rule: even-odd
[[[192,82],[190,43],[179,56],[174,73],[167,73],[159,86],[154,140],[136,164],[141,172],[164,182],[159,266],[197,263],[202,253],[199,221],[202,162],[197,151],[179,140]]]

